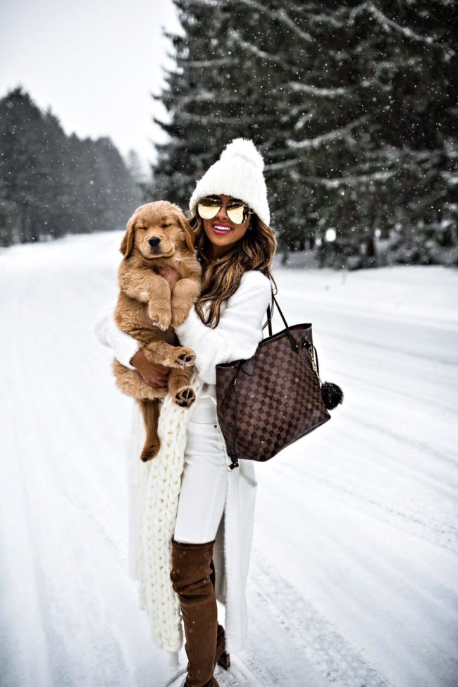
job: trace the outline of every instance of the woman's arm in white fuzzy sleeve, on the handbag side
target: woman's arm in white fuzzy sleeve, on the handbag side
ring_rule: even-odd
[[[268,278],[257,270],[249,270],[228,299],[216,328],[204,325],[195,307],[191,308],[187,320],[175,327],[180,344],[196,353],[194,365],[204,382],[216,383],[217,364],[254,355],[263,338],[262,323],[270,300]]]

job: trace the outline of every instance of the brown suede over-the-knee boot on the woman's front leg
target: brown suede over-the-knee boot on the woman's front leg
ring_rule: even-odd
[[[187,544],[172,538],[170,576],[180,598],[186,637],[185,687],[219,687],[213,677],[218,629],[215,590],[210,578],[214,543],[215,540]]]

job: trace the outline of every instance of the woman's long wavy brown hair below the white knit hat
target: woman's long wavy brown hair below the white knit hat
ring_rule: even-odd
[[[271,264],[277,249],[276,235],[256,214],[252,215],[252,229],[245,232],[240,241],[233,245],[232,250],[217,259],[211,259],[211,243],[205,233],[202,218],[195,210],[188,221],[195,234],[197,256],[202,264],[202,292],[197,299],[195,309],[204,324],[211,323],[213,328],[218,326],[221,303],[237,291],[242,274],[247,270],[259,270],[265,274],[275,286],[274,293],[278,292],[271,274]],[[206,319],[202,310],[204,301],[210,302]],[[273,314],[273,298],[271,298],[271,314]],[[266,325],[267,320],[263,329]]]

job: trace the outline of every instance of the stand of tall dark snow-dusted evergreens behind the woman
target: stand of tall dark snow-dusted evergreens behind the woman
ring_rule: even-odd
[[[451,0],[175,0],[154,194],[182,206],[235,136],[266,159],[280,245],[324,264],[456,261],[457,13]],[[334,228],[333,245],[323,241]],[[318,241],[319,243],[320,241]]]

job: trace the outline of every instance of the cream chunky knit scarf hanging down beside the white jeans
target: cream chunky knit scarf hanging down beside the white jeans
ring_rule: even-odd
[[[195,368],[190,385],[197,401],[204,383]],[[181,408],[173,403],[167,394],[159,415],[159,454],[147,463],[137,460],[136,569],[140,607],[149,615],[154,643],[174,652],[171,664],[176,664],[176,652],[183,643],[180,602],[170,578],[171,539],[191,411],[192,407]]]

